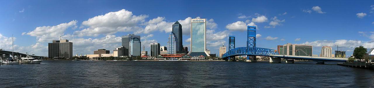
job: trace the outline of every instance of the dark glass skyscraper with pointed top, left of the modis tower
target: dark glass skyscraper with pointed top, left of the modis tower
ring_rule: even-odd
[[[172,30],[173,33],[175,33],[175,37],[176,37],[176,40],[177,40],[177,47],[176,47],[176,51],[177,53],[182,53],[182,49],[183,49],[183,38],[182,38],[182,25],[177,21],[174,23],[173,25],[173,30]]]

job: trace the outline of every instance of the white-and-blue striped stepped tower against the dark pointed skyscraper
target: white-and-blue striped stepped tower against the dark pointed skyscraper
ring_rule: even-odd
[[[175,36],[175,33],[171,32],[169,34],[169,38],[168,38],[168,43],[167,43],[167,47],[168,47],[168,54],[169,55],[172,55],[172,54],[177,54],[179,52],[177,52],[177,41],[178,39],[176,39],[177,37]]]

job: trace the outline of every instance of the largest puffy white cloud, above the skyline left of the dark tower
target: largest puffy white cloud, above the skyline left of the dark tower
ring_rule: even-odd
[[[82,22],[83,26],[88,28],[75,31],[74,35],[78,36],[98,36],[100,34],[111,35],[117,32],[131,32],[142,29],[137,25],[145,21],[148,15],[135,16],[132,12],[122,9],[117,12],[109,12],[104,15],[92,17]],[[159,19],[151,20],[157,22]]]

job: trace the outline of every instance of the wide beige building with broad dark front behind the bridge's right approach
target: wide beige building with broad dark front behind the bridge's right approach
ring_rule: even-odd
[[[294,56],[312,56],[313,46],[291,44],[287,43],[283,45],[283,55],[294,55]]]

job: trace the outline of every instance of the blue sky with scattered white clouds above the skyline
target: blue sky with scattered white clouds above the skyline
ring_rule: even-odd
[[[1,0],[0,48],[47,56],[52,40],[73,42],[73,55],[92,54],[96,49],[120,46],[120,36],[141,35],[142,45],[166,46],[175,21],[183,26],[183,45],[190,47],[189,20],[207,19],[207,45],[211,53],[228,45],[246,44],[245,27],[257,26],[257,47],[276,49],[286,43],[322,46],[345,45],[339,49],[351,55],[357,46],[374,48],[374,1],[77,1]]]

